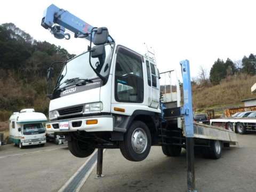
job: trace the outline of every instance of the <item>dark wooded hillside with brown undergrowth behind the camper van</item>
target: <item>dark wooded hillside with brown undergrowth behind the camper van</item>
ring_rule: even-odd
[[[22,108],[47,114],[46,70],[72,56],[60,46],[36,41],[13,23],[0,25],[0,122]],[[61,68],[54,66],[55,77]]]

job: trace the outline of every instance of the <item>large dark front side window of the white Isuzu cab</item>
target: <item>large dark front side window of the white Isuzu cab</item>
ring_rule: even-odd
[[[142,57],[119,47],[115,69],[115,99],[118,102],[143,102]]]

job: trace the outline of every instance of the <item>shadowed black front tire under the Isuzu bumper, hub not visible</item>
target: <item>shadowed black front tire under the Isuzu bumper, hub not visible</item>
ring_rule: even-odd
[[[89,147],[87,143],[78,141],[74,138],[68,141],[68,149],[76,157],[84,158],[90,156],[95,148]]]

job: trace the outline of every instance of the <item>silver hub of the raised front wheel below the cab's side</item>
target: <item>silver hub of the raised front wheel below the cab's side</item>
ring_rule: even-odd
[[[146,132],[141,128],[135,129],[132,133],[133,150],[136,153],[141,154],[146,150],[147,144],[148,144],[148,138],[147,138]]]

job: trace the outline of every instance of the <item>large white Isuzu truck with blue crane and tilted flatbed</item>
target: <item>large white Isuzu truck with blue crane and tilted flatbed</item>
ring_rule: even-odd
[[[87,52],[65,62],[49,95],[46,129],[64,134],[73,155],[119,148],[126,159],[142,161],[153,145],[162,146],[167,156],[180,155],[186,138],[179,120],[179,83],[161,80],[161,86],[152,52],[144,55],[118,44],[107,28],[92,27],[55,5],[46,9],[42,26],[57,38],[69,39],[67,28],[90,40]],[[171,78],[171,73],[162,75]],[[234,132],[219,127],[195,124],[194,129],[195,146],[212,158],[221,156],[223,145],[237,142]]]

